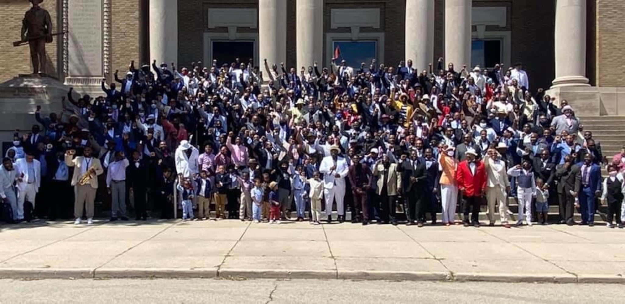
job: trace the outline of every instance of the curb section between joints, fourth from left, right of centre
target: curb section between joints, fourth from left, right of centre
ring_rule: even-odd
[[[400,280],[400,281],[449,281],[448,272],[390,272],[380,270],[339,270],[338,277],[342,280]]]

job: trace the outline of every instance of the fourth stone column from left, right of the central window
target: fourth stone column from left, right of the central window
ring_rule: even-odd
[[[434,0],[406,1],[406,62],[427,70],[434,60]]]

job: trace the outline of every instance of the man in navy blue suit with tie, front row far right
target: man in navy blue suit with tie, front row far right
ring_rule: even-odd
[[[601,195],[601,167],[592,163],[592,154],[586,153],[584,161],[577,164],[581,168],[581,187],[579,189],[579,209],[582,216],[580,225],[594,226],[595,197]]]

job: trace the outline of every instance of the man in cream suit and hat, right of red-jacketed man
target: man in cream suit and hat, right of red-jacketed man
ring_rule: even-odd
[[[502,148],[499,143],[497,148]],[[506,147],[507,148],[507,147]],[[489,226],[495,225],[495,203],[499,204],[499,217],[501,224],[509,228],[507,214],[507,193],[510,191],[510,181],[507,179],[506,162],[501,159],[494,149],[487,150],[484,156],[484,168],[486,169],[486,200],[488,202]]]

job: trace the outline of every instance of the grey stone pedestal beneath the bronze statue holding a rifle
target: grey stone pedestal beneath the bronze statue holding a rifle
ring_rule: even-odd
[[[61,100],[68,90],[63,82],[38,75],[20,75],[1,83],[0,141],[12,141],[15,129],[31,130],[37,123],[34,117],[37,105],[41,106],[42,115],[61,113]]]

